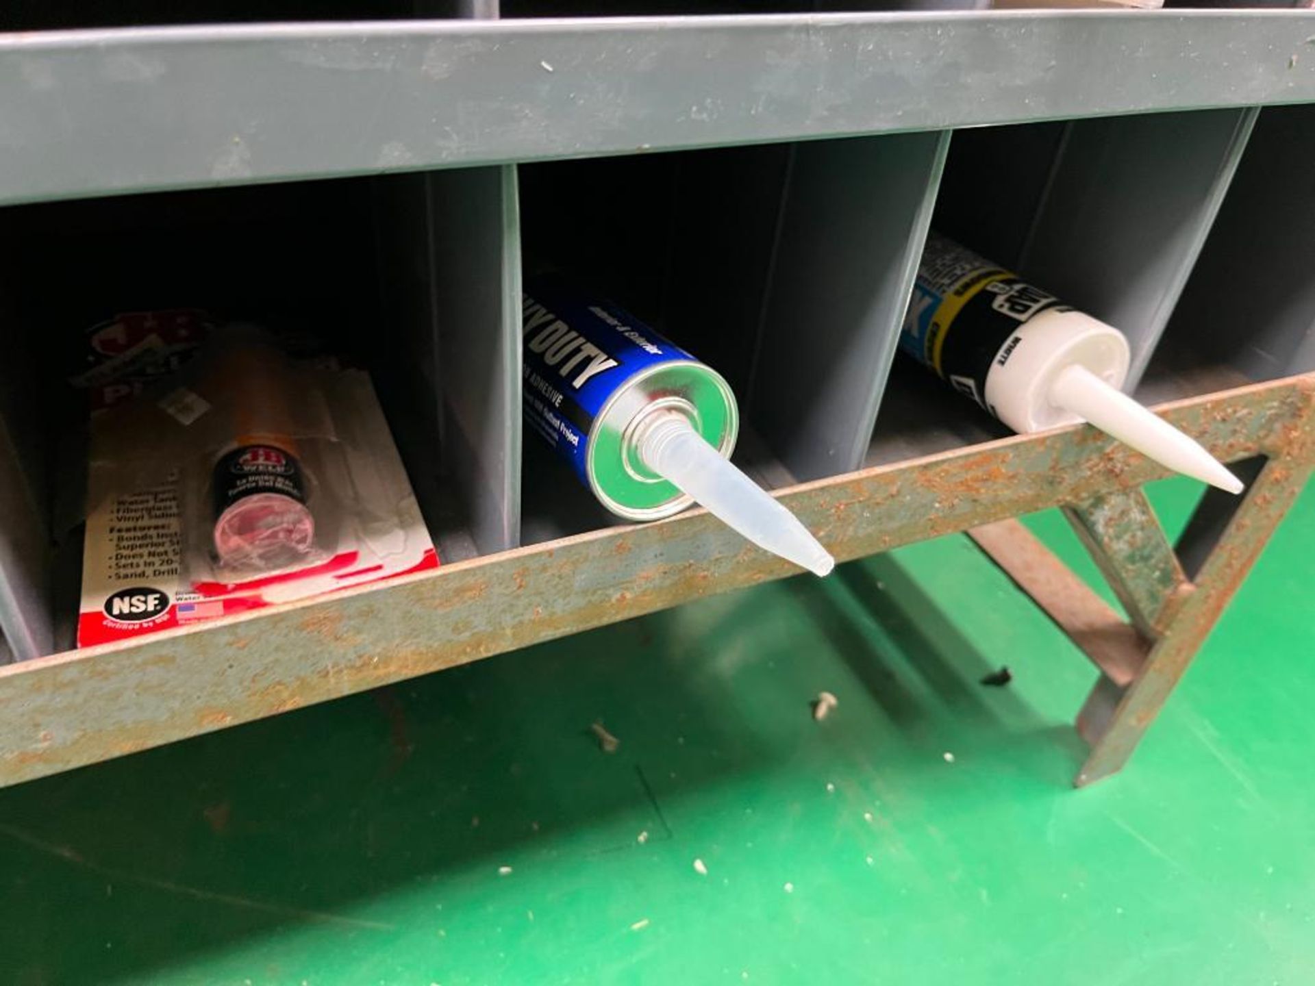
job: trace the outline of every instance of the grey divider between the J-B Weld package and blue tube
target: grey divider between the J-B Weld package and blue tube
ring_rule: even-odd
[[[515,181],[512,166],[380,180],[385,318],[398,333],[381,372],[418,415],[391,423],[444,560],[519,543]]]

